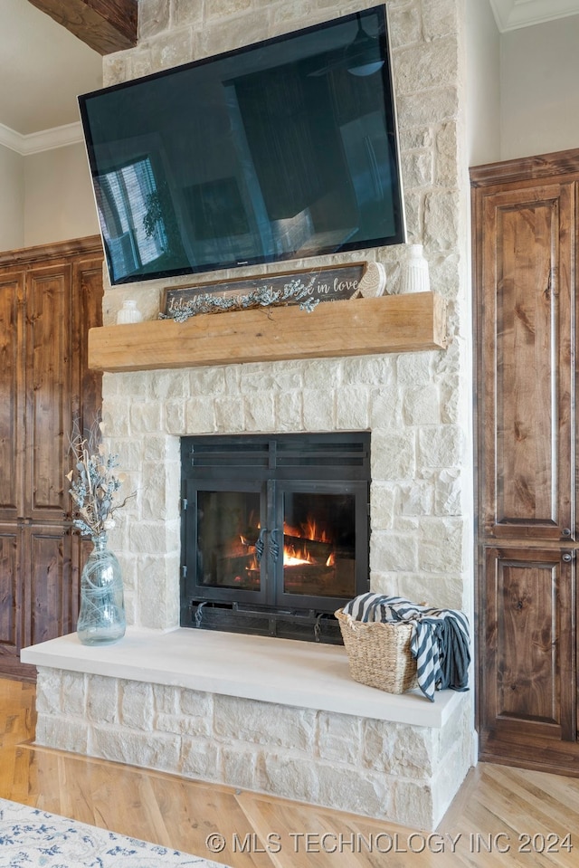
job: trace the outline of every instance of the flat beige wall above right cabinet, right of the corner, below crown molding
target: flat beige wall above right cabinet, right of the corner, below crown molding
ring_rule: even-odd
[[[501,158],[579,148],[579,15],[502,33]]]

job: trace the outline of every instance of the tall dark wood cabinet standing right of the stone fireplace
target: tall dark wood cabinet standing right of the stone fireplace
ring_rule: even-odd
[[[579,775],[579,151],[471,169],[480,757]]]

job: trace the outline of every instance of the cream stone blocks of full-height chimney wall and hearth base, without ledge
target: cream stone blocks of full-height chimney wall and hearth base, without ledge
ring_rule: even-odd
[[[369,5],[374,4],[140,0],[138,47],[104,59],[105,84]],[[123,567],[131,624],[159,631],[178,625],[183,434],[369,430],[371,586],[471,614],[463,0],[389,0],[387,7],[408,240],[423,243],[432,289],[448,302],[450,347],[106,374],[103,415],[109,441],[128,472],[127,490],[137,491],[117,514],[118,526],[109,535]],[[402,247],[284,263],[270,270],[360,259],[382,262],[387,291],[397,291]],[[214,272],[200,275],[199,282],[228,276]],[[194,282],[109,288],[104,320],[114,322],[127,298],[136,298],[144,315],[155,319],[167,283]],[[441,730],[421,727],[419,721],[416,726],[380,723],[56,670],[41,672],[39,701],[38,739],[52,747],[410,825],[440,819],[472,758],[471,693]]]

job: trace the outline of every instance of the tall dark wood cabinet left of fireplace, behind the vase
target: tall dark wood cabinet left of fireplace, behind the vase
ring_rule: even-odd
[[[20,649],[76,623],[83,544],[65,474],[73,419],[100,406],[87,339],[102,259],[99,237],[0,253],[0,673],[33,677]]]

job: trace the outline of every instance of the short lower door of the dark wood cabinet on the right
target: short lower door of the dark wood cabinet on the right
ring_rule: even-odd
[[[486,548],[479,598],[483,758],[579,774],[574,550]]]

